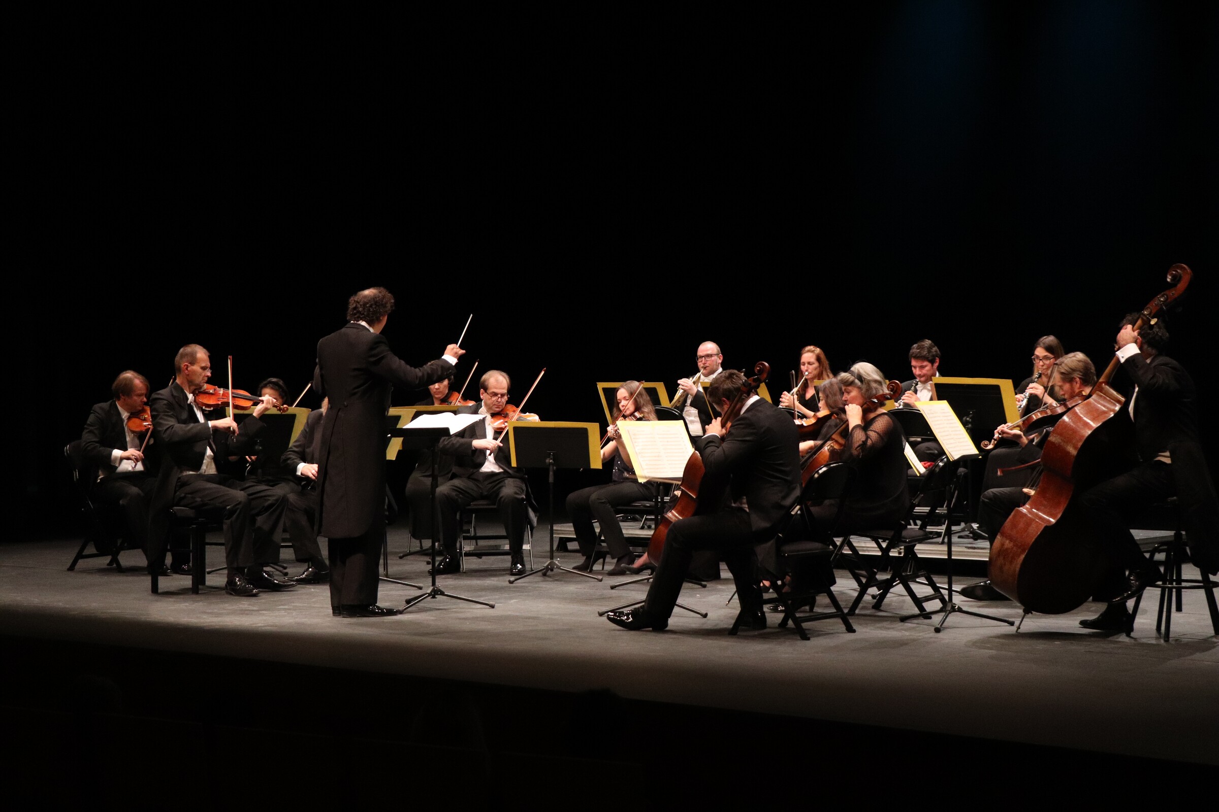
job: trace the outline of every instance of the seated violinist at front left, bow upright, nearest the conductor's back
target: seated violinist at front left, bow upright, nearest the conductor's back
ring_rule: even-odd
[[[228,594],[245,598],[260,589],[295,587],[262,569],[279,558],[284,493],[258,481],[240,482],[217,469],[218,461],[249,453],[262,430],[258,418],[272,408],[272,398],[257,398],[239,430],[232,418],[208,419],[204,413],[204,402],[213,397],[207,391],[211,358],[204,347],[179,349],[174,369],[174,380],[151,401],[160,471],[151,504],[149,566],[163,567],[169,508],[183,506],[223,519]]]

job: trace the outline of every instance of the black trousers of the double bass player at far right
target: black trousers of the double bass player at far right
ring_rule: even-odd
[[[1108,567],[1093,594],[1108,599],[1123,592],[1126,570],[1145,570],[1147,556],[1139,549],[1130,521],[1147,505],[1163,502],[1176,492],[1168,463],[1140,463],[1130,471],[1079,494],[1079,506],[1087,511],[1100,531]]]

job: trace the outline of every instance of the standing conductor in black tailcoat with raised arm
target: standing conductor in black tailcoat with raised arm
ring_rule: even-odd
[[[318,450],[318,533],[329,543],[330,607],[343,617],[383,617],[377,559],[385,542],[385,415],[394,386],[417,390],[446,377],[464,351],[416,369],[380,331],[394,297],[384,287],[347,302],[349,323],[317,343],[313,388],[330,401]]]

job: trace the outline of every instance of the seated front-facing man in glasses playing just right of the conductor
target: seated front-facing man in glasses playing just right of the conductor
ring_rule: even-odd
[[[495,427],[508,409],[508,390],[512,380],[507,373],[492,369],[479,381],[482,403],[462,407],[457,414],[482,414],[479,420],[438,443],[441,455],[452,458],[452,478],[436,489],[440,516],[440,541],[445,556],[436,562],[436,575],[457,572],[457,515],[477,499],[492,499],[500,511],[508,536],[512,554],[511,573],[524,575],[524,538],[531,506],[527,503],[528,487],[522,471],[512,467],[507,446],[500,439],[503,430]],[[512,419],[534,419],[536,415],[517,415]],[[497,439],[499,438],[499,439]]]

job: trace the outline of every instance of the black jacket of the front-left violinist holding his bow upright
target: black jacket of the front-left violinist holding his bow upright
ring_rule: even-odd
[[[240,457],[254,447],[254,438],[262,431],[262,421],[250,416],[241,421],[234,437],[228,431],[212,431],[200,422],[187,392],[172,381],[166,388],[154,392],[149,399],[152,413],[152,439],[146,455],[156,470],[156,488],[149,505],[149,564],[165,560],[166,533],[169,528],[169,508],[173,493],[183,471],[197,471],[207,455],[207,443],[212,443],[212,455],[217,469],[223,469],[229,457]]]

